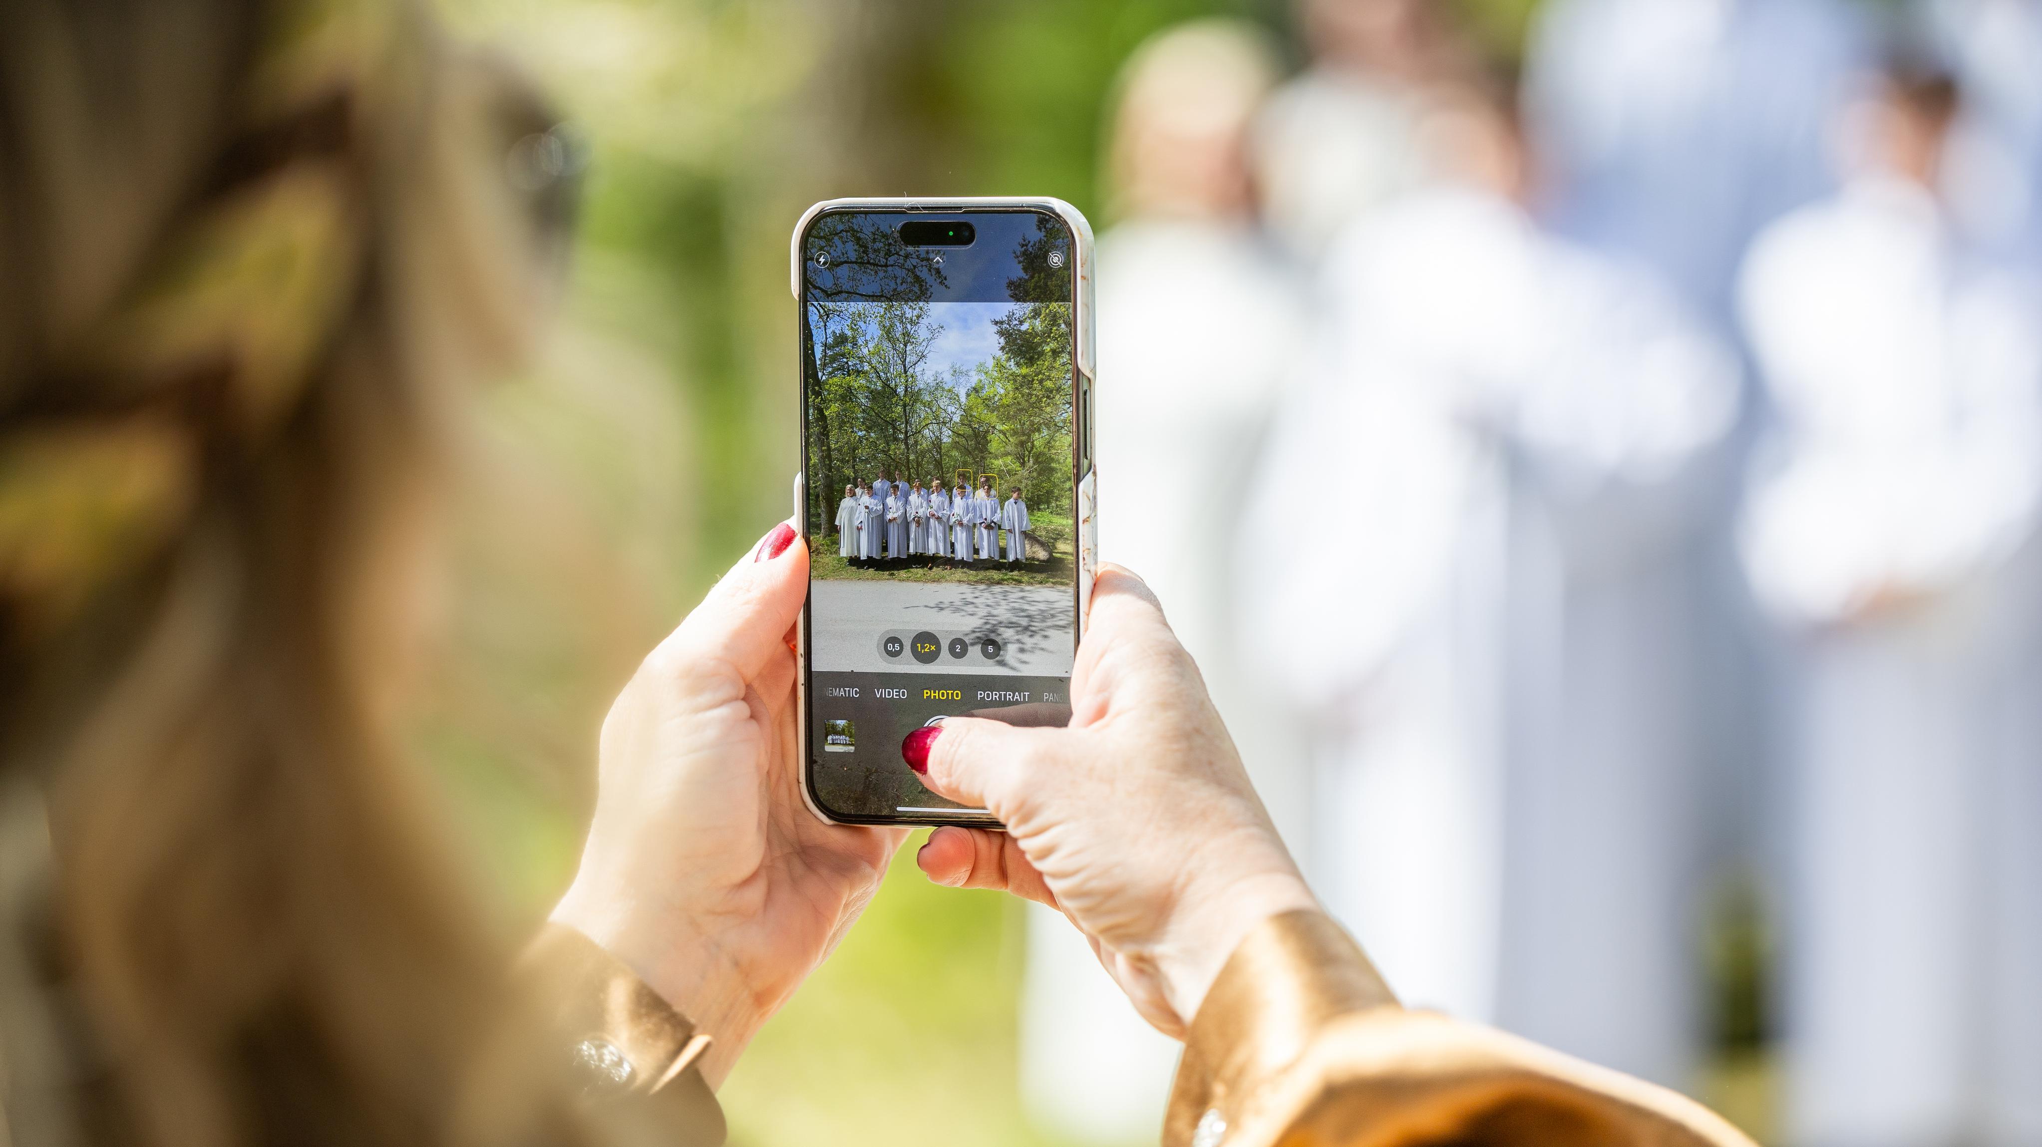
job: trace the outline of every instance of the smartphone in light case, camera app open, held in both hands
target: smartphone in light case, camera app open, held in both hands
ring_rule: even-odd
[[[829,200],[794,227],[803,794],[841,825],[999,827],[907,735],[1070,722],[1099,563],[1092,229],[1031,198]]]

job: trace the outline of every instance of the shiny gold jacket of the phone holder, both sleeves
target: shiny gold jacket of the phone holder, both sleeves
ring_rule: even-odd
[[[594,1094],[670,1108],[682,1143],[723,1141],[723,1112],[692,1067],[702,1041],[684,1016],[578,933],[549,929],[533,955],[564,980],[557,1018],[584,1049]],[[1666,1088],[1401,1008],[1321,912],[1274,916],[1227,959],[1190,1023],[1162,1141],[1750,1147]]]

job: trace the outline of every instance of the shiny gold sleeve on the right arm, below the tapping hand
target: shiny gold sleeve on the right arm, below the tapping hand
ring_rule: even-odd
[[[1407,1012],[1323,912],[1264,920],[1184,1043],[1164,1147],[1752,1147],[1701,1104],[1536,1043]]]

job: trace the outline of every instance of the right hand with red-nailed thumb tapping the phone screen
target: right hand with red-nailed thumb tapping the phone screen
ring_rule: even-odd
[[[1233,947],[1315,906],[1248,784],[1190,655],[1133,574],[1107,565],[1070,682],[1068,729],[954,716],[925,784],[1007,833],[937,829],[937,884],[1060,908],[1135,1008],[1182,1037]]]

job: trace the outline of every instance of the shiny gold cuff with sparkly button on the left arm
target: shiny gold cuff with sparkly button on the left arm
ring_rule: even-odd
[[[588,1102],[651,1114],[672,1143],[723,1143],[723,1106],[698,1067],[709,1037],[631,967],[582,933],[547,925],[519,974]]]

